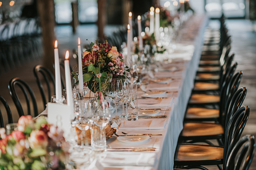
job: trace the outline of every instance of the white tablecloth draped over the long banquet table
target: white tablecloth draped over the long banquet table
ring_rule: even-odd
[[[204,16],[193,16],[187,23],[185,23],[185,28],[182,32],[186,32],[188,38],[183,37],[183,41],[181,41],[179,45],[177,45],[177,54],[178,48],[183,46],[185,47],[193,47],[194,49],[192,53],[184,53],[183,58],[182,55],[176,55],[175,50],[174,54],[167,56],[170,58],[175,58],[175,56],[179,56],[179,60],[173,60],[173,66],[178,66],[179,68],[183,68],[178,76],[175,76],[175,72],[170,72],[170,77],[173,77],[175,81],[178,81],[178,89],[174,88],[172,96],[172,105],[170,111],[161,111],[160,115],[167,115],[166,125],[164,129],[161,130],[119,130],[117,134],[121,134],[121,132],[126,132],[128,134],[141,134],[141,133],[152,133],[152,134],[163,134],[162,136],[153,136],[150,140],[143,144],[129,145],[126,143],[122,143],[116,140],[116,136],[111,137],[107,141],[107,145],[113,148],[117,147],[156,147],[158,151],[155,151],[155,163],[154,166],[111,166],[104,164],[100,161],[96,163],[96,166],[99,169],[173,169],[173,158],[174,152],[176,149],[177,141],[179,133],[183,128],[183,118],[186,109],[186,105],[191,93],[191,90],[194,87],[194,78],[196,76],[196,72],[198,69],[198,63],[201,57],[202,44],[203,44],[203,34],[206,28],[207,18]],[[184,34],[184,35],[187,35]],[[194,36],[193,36],[194,34]],[[191,36],[192,35],[192,36]],[[192,38],[191,38],[192,37]],[[182,49],[182,48],[181,48]],[[173,57],[174,56],[174,57]],[[160,57],[159,57],[160,58]],[[181,59],[181,60],[180,60]],[[177,63],[175,63],[177,62]],[[172,64],[169,64],[170,66]],[[158,73],[161,74],[161,73]],[[171,75],[173,74],[173,76]],[[161,75],[160,75],[161,77]],[[176,84],[177,85],[177,84]],[[161,87],[162,85],[159,85]],[[138,92],[140,96],[142,92]],[[161,96],[162,97],[162,96]],[[157,107],[159,108],[159,107]],[[166,107],[163,107],[166,108]],[[148,119],[145,119],[148,120]],[[145,154],[146,152],[143,152]],[[122,154],[117,153],[116,154]],[[138,154],[138,152],[134,152],[134,154]]]

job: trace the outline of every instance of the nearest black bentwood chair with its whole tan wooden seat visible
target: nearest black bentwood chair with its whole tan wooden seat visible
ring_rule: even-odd
[[[217,165],[226,161],[228,148],[236,143],[244,129],[249,117],[249,107],[243,106],[238,109],[228,122],[225,130],[225,144],[223,146],[179,143],[177,144],[174,155],[174,167],[176,166],[203,166]]]

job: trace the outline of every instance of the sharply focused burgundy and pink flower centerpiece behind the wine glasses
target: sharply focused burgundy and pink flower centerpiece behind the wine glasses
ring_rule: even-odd
[[[125,71],[129,71],[129,68],[124,67],[123,56],[116,47],[107,42],[95,42],[90,45],[91,48],[83,53],[82,58],[83,81],[92,92],[102,97],[102,91],[108,89],[109,80],[112,77],[125,78]],[[75,72],[72,74],[76,75]]]

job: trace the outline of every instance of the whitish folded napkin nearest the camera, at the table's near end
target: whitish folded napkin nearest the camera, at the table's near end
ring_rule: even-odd
[[[128,153],[128,152],[105,152],[101,154],[100,163],[105,165],[136,165],[153,166],[156,153]]]

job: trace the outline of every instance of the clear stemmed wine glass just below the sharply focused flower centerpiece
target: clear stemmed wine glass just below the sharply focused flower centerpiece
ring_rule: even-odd
[[[106,95],[111,99],[111,101],[115,104],[115,119],[118,119],[117,116],[117,104],[121,100],[123,96],[123,88],[121,80],[118,78],[112,78],[109,80],[109,89],[106,92]]]

